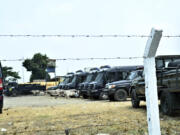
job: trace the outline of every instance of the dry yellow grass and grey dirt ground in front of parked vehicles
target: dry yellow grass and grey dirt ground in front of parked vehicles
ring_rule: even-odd
[[[180,115],[160,114],[163,135],[180,134]],[[0,115],[0,134],[13,135],[145,135],[146,109],[133,109],[131,103],[84,99],[23,96],[5,98]]]

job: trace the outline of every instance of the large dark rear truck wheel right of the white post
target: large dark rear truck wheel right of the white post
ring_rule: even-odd
[[[160,97],[161,112],[164,115],[173,115],[176,95],[168,91],[163,91]]]

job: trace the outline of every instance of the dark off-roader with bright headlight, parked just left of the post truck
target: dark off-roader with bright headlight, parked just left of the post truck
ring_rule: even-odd
[[[118,81],[107,83],[103,92],[108,95],[110,101],[125,101],[129,97],[131,82],[142,73],[143,66],[122,66],[118,67],[121,75]]]

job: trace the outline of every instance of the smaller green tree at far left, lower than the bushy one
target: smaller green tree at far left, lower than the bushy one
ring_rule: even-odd
[[[2,67],[2,72],[3,72],[4,80],[6,80],[7,77],[13,77],[14,80],[17,80],[17,79],[21,78],[19,76],[18,72],[15,72],[15,71],[12,71],[12,70],[13,70],[12,67],[7,67],[7,66]]]

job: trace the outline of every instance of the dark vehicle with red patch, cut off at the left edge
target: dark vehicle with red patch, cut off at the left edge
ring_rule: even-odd
[[[2,75],[2,67],[0,62],[0,114],[3,109],[3,75]]]

